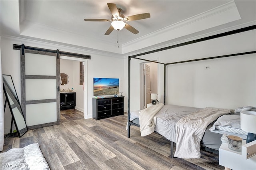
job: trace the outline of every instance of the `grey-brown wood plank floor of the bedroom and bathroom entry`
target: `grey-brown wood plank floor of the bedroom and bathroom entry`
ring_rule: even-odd
[[[140,136],[127,115],[94,120],[83,113],[61,111],[61,123],[29,130],[21,138],[6,137],[4,150],[38,143],[51,170],[224,170],[218,155],[201,151],[200,159],[170,158],[170,142],[156,133]]]

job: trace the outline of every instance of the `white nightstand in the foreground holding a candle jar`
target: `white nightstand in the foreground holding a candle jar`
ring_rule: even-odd
[[[242,140],[242,145],[246,140]],[[244,148],[242,147],[242,150]],[[219,164],[232,170],[256,170],[256,155],[246,159],[242,152],[236,152],[228,148],[228,144],[222,143],[219,150]]]

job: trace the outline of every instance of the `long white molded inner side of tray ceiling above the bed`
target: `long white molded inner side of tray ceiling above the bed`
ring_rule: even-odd
[[[141,49],[239,19],[241,19],[241,17],[236,4],[234,1],[231,1],[131,42],[124,43],[122,45],[123,53],[128,53],[130,49]],[[212,20],[214,20],[214,22],[212,22]]]

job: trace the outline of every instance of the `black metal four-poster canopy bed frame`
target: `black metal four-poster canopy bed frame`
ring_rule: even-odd
[[[138,58],[139,56],[150,54],[150,53],[155,53],[155,52],[163,51],[163,50],[167,50],[167,49],[172,49],[172,48],[176,48],[176,47],[180,47],[180,46],[184,46],[184,45],[189,45],[189,44],[192,44],[192,43],[197,43],[197,42],[202,42],[202,41],[206,41],[206,40],[211,40],[211,39],[214,39],[214,38],[220,38],[220,37],[229,36],[229,35],[232,35],[232,34],[238,34],[238,33],[241,33],[241,32],[246,32],[246,31],[255,30],[255,29],[256,29],[256,25],[248,26],[246,28],[241,28],[241,29],[238,29],[238,30],[224,32],[224,33],[221,33],[221,34],[216,34],[216,35],[213,35],[213,36],[208,36],[208,37],[205,37],[205,38],[200,38],[200,39],[197,39],[197,40],[192,40],[192,41],[189,41],[189,42],[179,43],[179,44],[176,44],[176,45],[171,45],[171,46],[168,46],[168,47],[163,47],[163,48],[160,48],[160,49],[156,49],[156,50],[152,50],[152,51],[148,51],[148,52],[139,53],[139,54],[136,54],[136,55],[129,56],[128,57],[128,123],[127,123],[128,138],[130,138],[130,126],[131,125],[140,127],[138,122],[134,122],[134,121],[130,120],[130,116],[131,116],[131,112],[130,112],[130,108],[131,108],[130,107],[130,99],[131,99],[130,98],[130,92],[131,92],[131,89],[130,89],[130,85],[131,85],[131,59],[139,59],[139,60],[144,60],[144,61],[154,62],[154,63],[158,63],[158,64],[164,65],[164,73],[163,73],[164,74],[164,77],[163,77],[163,79],[164,79],[163,80],[164,81],[163,82],[164,83],[164,89],[163,89],[163,91],[164,91],[164,94],[163,94],[164,102],[163,102],[163,104],[166,105],[166,67],[168,65],[173,65],[173,64],[178,64],[178,63],[186,63],[186,62],[194,62],[194,61],[200,61],[200,60],[208,60],[208,59],[217,59],[217,58],[223,58],[223,57],[231,57],[231,56],[237,56],[237,55],[246,55],[246,54],[256,53],[256,51],[248,51],[248,52],[242,52],[242,53],[233,53],[233,54],[228,54],[228,55],[220,55],[220,56],[215,56],[215,57],[192,59],[192,60],[178,61],[178,62],[172,62],[172,63],[161,63],[161,62],[158,62],[158,61],[151,61],[151,60],[148,60],[148,59]],[[219,134],[219,135],[220,136],[218,136],[218,138],[220,139],[222,134]],[[207,135],[204,135],[203,138],[207,138]],[[170,156],[172,158],[174,158],[174,142],[170,141],[170,145],[171,145]],[[218,150],[210,148],[208,146],[204,146],[202,144],[202,141],[201,141],[201,148],[200,149],[203,149],[203,150],[210,151],[210,152],[218,154]]]

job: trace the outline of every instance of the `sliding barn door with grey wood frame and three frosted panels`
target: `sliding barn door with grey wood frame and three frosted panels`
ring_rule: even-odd
[[[31,49],[21,55],[22,109],[30,129],[60,124],[58,55]]]

